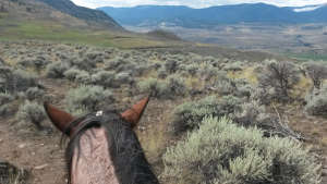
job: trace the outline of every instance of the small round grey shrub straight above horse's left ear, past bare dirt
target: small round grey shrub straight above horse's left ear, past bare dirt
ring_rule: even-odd
[[[47,66],[46,74],[50,78],[63,78],[64,72],[70,69],[68,63],[55,62]]]

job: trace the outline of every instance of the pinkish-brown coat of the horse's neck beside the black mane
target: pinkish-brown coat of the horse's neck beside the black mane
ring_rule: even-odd
[[[119,184],[105,128],[89,128],[81,136],[71,169],[72,184]]]

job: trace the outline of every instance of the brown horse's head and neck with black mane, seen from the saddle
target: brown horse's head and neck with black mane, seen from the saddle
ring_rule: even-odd
[[[71,184],[158,184],[133,131],[148,103],[123,113],[99,111],[74,119],[45,102],[50,120],[70,137],[65,159]]]

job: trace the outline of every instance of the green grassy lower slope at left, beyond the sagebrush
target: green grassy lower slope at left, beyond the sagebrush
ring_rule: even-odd
[[[56,42],[87,44],[100,47],[148,48],[169,47],[174,44],[147,38],[143,35],[114,30],[78,29],[51,21],[13,20],[0,14],[0,40],[48,40]]]

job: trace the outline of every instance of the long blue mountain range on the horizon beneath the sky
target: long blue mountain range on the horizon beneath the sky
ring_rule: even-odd
[[[279,8],[265,3],[219,5],[192,9],[180,5],[140,5],[134,8],[99,8],[118,23],[132,26],[208,27],[219,24],[269,23],[298,24],[327,22],[327,7]]]

